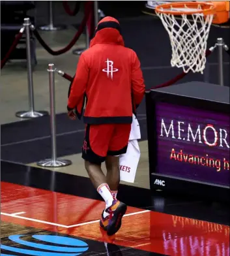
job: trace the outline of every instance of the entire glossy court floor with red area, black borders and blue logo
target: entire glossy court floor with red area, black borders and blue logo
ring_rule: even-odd
[[[229,208],[224,206],[121,185],[118,197],[128,210],[121,230],[108,237],[98,225],[104,202],[89,178],[3,161],[1,171],[3,256],[229,255]],[[66,249],[69,238],[77,250],[82,241],[88,249]],[[53,243],[55,248],[49,247]]]

